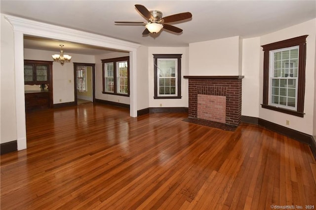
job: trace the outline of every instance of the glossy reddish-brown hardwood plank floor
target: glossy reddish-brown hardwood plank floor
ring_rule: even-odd
[[[29,113],[28,148],[1,155],[1,210],[316,207],[308,145],[185,118],[92,103]]]

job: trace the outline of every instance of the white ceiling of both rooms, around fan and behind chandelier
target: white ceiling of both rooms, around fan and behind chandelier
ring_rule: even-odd
[[[160,10],[163,16],[191,12],[189,21],[172,25],[183,29],[175,34],[162,30],[142,35],[144,26],[115,25],[114,21],[145,21],[135,8],[142,4]],[[268,34],[316,18],[316,0],[0,0],[3,14],[105,35],[145,46],[188,46],[189,43]],[[97,55],[106,49],[60,40],[25,39],[25,48]]]

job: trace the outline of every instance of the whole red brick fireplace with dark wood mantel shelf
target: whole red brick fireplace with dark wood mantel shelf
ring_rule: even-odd
[[[189,118],[237,126],[241,120],[243,77],[184,76],[189,79]]]

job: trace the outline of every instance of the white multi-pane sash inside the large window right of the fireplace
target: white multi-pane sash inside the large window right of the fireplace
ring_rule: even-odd
[[[297,110],[298,56],[298,45],[270,51],[269,105]]]

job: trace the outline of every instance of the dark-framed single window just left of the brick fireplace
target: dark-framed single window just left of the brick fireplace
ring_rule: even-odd
[[[181,99],[181,55],[154,54],[154,99]]]

